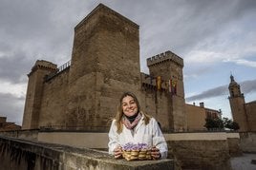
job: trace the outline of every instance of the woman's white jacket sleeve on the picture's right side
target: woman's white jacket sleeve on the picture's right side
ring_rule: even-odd
[[[160,130],[160,125],[153,118],[153,145],[160,149],[161,159],[166,159],[168,155],[168,147]]]

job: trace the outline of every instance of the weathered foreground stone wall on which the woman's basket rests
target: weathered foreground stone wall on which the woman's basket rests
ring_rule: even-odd
[[[159,170],[174,169],[173,161],[116,160],[102,151],[60,144],[28,142],[0,136],[1,169],[28,170]]]

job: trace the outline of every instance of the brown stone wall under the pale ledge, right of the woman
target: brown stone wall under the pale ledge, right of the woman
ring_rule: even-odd
[[[226,141],[173,141],[168,146],[182,169],[231,169]]]

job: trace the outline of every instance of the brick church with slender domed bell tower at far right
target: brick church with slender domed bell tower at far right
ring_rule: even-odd
[[[230,76],[229,104],[235,122],[239,123],[240,132],[256,131],[256,101],[245,103],[245,96],[241,92],[240,85]]]

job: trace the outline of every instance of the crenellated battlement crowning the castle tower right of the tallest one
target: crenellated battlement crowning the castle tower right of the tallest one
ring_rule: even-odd
[[[179,65],[181,67],[184,66],[183,59],[169,50],[148,58],[147,66],[159,65],[159,64],[162,64],[162,63],[168,62],[168,61],[175,62],[177,65]]]

